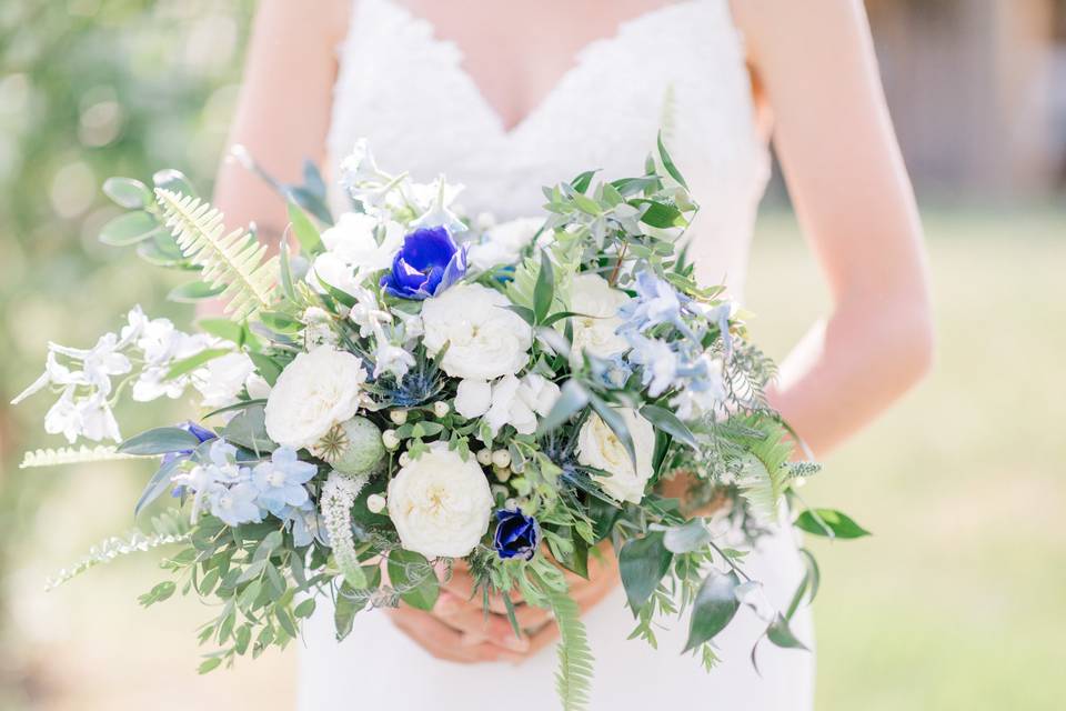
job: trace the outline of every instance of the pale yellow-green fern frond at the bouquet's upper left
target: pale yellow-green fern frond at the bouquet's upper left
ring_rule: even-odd
[[[203,281],[223,290],[219,298],[234,320],[270,306],[278,258],[263,261],[265,244],[243,229],[227,234],[222,213],[199,198],[157,188],[155,201],[181,253],[203,270]]]

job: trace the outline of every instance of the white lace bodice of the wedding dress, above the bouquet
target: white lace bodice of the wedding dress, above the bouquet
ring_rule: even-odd
[[[511,130],[460,48],[396,0],[355,0],[339,52],[332,169],[365,137],[382,167],[423,181],[443,172],[466,187],[459,202],[467,213],[505,219],[539,214],[541,186],[582,170],[638,174],[663,128],[701,206],[690,230],[700,277],[741,290],[768,158],[727,0],[686,0],[623,22],[585,46]]]

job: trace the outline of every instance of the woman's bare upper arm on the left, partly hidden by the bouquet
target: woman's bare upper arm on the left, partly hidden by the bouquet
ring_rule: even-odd
[[[299,182],[304,159],[321,163],[336,74],[334,48],[348,27],[348,3],[263,0],[255,14],[229,147],[244,146],[266,172]],[[254,222],[276,240],[284,231],[284,200],[234,161],[223,161],[214,204],[231,226]]]

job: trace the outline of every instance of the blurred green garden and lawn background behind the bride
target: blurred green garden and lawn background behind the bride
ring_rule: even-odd
[[[831,457],[805,490],[875,532],[858,543],[812,543],[825,583],[815,605],[823,711],[1063,707],[1062,3],[935,4],[929,16],[922,3],[869,3],[908,163],[924,202],[935,206],[925,222],[939,344],[931,378]],[[957,14],[945,16],[952,7]],[[48,339],[91,343],[134,302],[191,317],[162,299],[171,276],[97,242],[111,214],[99,184],[174,167],[210,188],[253,10],[251,0],[0,3],[3,403],[37,377]],[[966,22],[973,13],[986,21]],[[1004,38],[1046,62],[1019,64]],[[939,54],[928,49],[936,41]],[[952,64],[956,46],[958,57],[972,57],[968,48],[988,61]],[[957,71],[937,66],[912,78],[906,61],[922,48]],[[1000,54],[1009,61],[996,63]],[[956,89],[984,77],[985,113],[1002,113],[996,131],[1020,131],[1042,112],[1039,150],[1029,132],[1016,150],[985,141],[996,161],[978,160],[987,127],[966,124],[959,114],[972,111],[948,116],[951,92],[929,93],[926,74]],[[992,82],[1006,80],[1036,82],[1042,102],[993,106],[1002,92]],[[956,130],[959,122],[968,128]],[[760,314],[755,337],[776,357],[827,308],[781,196],[778,187],[758,224],[747,297]],[[190,600],[135,604],[155,580],[157,557],[43,592],[58,568],[133,524],[130,502],[149,473],[138,465],[19,471],[24,450],[61,443],[42,432],[47,400],[0,404],[0,709],[190,709],[234,699],[238,708],[291,708],[295,650],[195,674],[193,630],[208,611]],[[133,428],[180,413],[162,404],[119,417]]]

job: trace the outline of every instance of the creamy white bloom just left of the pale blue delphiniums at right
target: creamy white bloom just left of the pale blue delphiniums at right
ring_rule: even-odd
[[[600,358],[611,358],[628,348],[625,338],[617,334],[622,326],[619,308],[628,301],[628,297],[612,289],[607,281],[592,273],[574,277],[571,287],[570,310],[582,316],[571,319],[574,326],[572,357],[581,358],[582,352]]]

